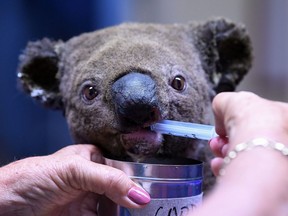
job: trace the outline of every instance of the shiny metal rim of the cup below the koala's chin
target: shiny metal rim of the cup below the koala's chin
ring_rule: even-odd
[[[122,170],[133,179],[187,181],[203,178],[203,162],[193,159],[157,158],[131,162],[105,157],[104,160],[106,165]]]

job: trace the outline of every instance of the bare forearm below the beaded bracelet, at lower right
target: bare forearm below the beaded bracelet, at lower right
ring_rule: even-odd
[[[275,150],[242,152],[195,215],[288,215],[287,169],[288,158]]]

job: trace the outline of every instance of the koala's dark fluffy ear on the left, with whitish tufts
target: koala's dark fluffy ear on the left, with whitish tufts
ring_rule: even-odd
[[[20,87],[32,98],[53,109],[62,109],[59,92],[57,49],[61,41],[54,42],[47,38],[29,42],[20,55],[18,81]]]

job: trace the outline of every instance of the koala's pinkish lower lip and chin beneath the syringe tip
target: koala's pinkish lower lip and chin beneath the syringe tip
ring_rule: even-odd
[[[162,135],[142,128],[137,131],[122,134],[121,143],[132,158],[152,156],[157,153],[161,147]]]

